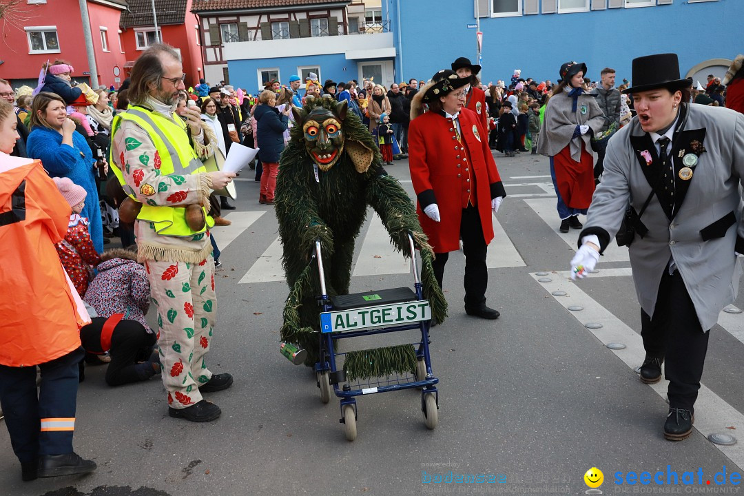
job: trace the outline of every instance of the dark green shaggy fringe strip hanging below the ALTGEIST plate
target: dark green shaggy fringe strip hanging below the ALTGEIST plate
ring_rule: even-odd
[[[416,373],[416,348],[413,344],[350,351],[344,361],[347,381]]]

